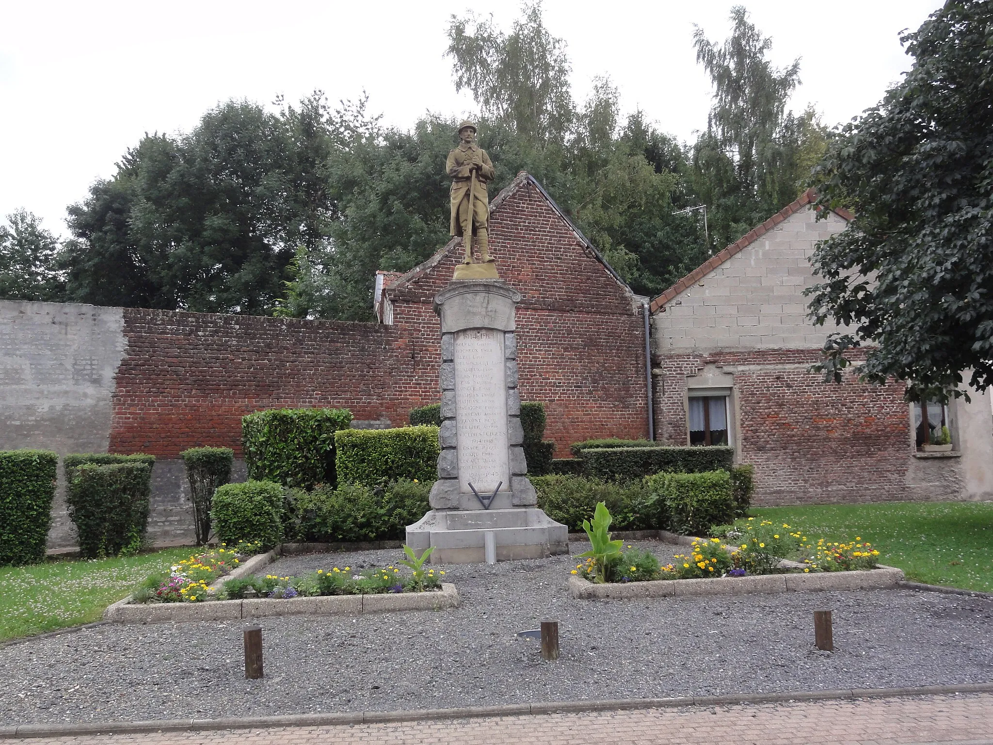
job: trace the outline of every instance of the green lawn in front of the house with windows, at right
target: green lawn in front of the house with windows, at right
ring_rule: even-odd
[[[802,527],[808,536],[861,536],[881,563],[916,582],[993,592],[993,502],[890,502],[756,508],[750,515]]]

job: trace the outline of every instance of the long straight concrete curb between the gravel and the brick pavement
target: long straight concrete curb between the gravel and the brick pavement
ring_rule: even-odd
[[[683,706],[734,706],[743,703],[789,703],[838,699],[890,698],[896,696],[947,695],[993,692],[993,682],[921,685],[901,688],[840,688],[797,690],[782,693],[740,693],[672,698],[622,698],[607,700],[547,701],[502,706],[467,706],[451,709],[411,709],[407,711],[355,711],[324,714],[288,714],[223,719],[161,719],[133,722],[80,722],[77,724],[21,724],[0,726],[0,739],[26,737],[71,737],[95,734],[139,734],[143,732],[198,732],[222,729],[262,729],[270,727],[314,727],[386,722],[478,719],[493,716],[538,716],[590,711],[625,711],[676,708]]]

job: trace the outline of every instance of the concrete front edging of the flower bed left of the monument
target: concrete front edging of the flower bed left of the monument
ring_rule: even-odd
[[[209,603],[130,605],[118,600],[103,614],[115,624],[161,624],[172,621],[238,621],[272,616],[356,616],[361,613],[440,611],[459,606],[455,585],[443,582],[440,591],[381,595],[323,595],[288,600],[213,600]]]

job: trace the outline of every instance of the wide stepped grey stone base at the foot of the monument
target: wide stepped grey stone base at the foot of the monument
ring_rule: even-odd
[[[429,561],[435,564],[483,563],[488,532],[494,533],[497,561],[569,552],[569,528],[536,507],[432,510],[407,526],[407,545],[418,556],[434,546]]]

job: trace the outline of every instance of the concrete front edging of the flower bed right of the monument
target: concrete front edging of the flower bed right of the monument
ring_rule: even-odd
[[[761,574],[750,577],[708,579],[654,579],[648,582],[594,584],[569,577],[569,596],[578,600],[611,598],[664,598],[700,595],[751,595],[814,590],[883,590],[898,586],[904,572],[880,565],[868,571],[816,572],[811,574]]]

